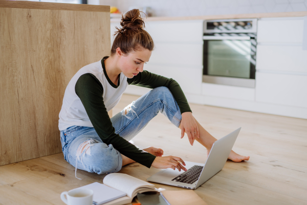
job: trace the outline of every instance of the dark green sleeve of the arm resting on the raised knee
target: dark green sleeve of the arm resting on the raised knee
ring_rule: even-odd
[[[136,85],[152,89],[161,86],[167,87],[177,101],[181,114],[184,112],[192,112],[181,87],[177,81],[172,78],[153,74],[144,70],[133,78],[128,78],[127,82],[129,85]]]

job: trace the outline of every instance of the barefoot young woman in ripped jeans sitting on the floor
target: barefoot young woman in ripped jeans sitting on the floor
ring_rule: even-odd
[[[180,157],[162,156],[163,150],[139,149],[128,142],[159,112],[187,133],[190,144],[199,141],[210,152],[216,140],[193,117],[179,84],[143,70],[154,44],[143,30],[138,9],[126,12],[121,19],[111,55],[81,68],[70,80],[59,113],[59,130],[65,160],[78,169],[98,174],[118,172],[135,161],[150,168],[186,171]],[[114,108],[128,85],[152,88],[112,118]],[[231,151],[229,159],[249,160]],[[182,162],[182,163],[180,163]]]

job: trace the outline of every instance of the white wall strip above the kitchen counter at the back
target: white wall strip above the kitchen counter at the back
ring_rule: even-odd
[[[101,0],[102,1],[102,0]],[[155,16],[197,16],[307,11],[307,0],[115,0],[123,13],[149,6]]]

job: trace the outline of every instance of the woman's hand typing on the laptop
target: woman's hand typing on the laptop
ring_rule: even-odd
[[[179,171],[181,171],[181,169],[187,171],[187,169],[183,167],[179,161],[181,161],[185,166],[185,162],[180,157],[175,157],[175,156],[156,157],[156,159],[153,160],[151,166],[158,169],[171,168],[175,170],[177,168]]]

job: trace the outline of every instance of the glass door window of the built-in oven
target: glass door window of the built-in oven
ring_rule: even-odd
[[[252,40],[204,40],[204,74],[255,79]]]

